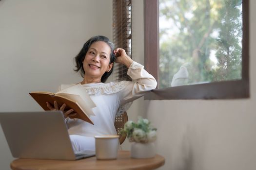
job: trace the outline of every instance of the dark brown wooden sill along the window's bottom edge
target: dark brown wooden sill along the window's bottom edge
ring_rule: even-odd
[[[232,87],[232,88],[231,88]],[[249,98],[249,83],[245,80],[213,82],[200,85],[183,85],[155,89],[145,95],[145,100],[186,99],[241,99]]]

